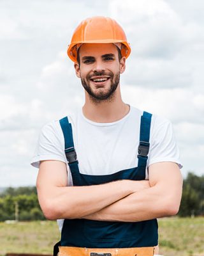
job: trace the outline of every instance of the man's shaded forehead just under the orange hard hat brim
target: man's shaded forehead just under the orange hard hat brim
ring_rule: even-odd
[[[80,57],[102,56],[109,53],[117,54],[117,46],[114,44],[82,44],[80,47]]]

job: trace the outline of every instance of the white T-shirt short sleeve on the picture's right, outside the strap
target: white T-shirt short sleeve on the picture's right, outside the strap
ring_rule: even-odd
[[[148,166],[159,162],[174,162],[182,168],[179,148],[175,140],[173,126],[167,119],[155,117],[150,131],[150,152]]]

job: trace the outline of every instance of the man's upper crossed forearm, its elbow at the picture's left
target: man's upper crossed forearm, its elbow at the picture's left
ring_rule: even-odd
[[[82,218],[100,211],[134,191],[128,186],[128,180],[118,180],[94,186],[47,188],[46,193],[40,193],[38,188],[38,192],[39,200],[43,202],[41,207],[45,216],[55,220]]]

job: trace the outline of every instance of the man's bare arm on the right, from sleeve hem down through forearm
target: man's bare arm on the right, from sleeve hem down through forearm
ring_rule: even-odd
[[[177,214],[182,196],[182,175],[177,164],[168,162],[150,165],[149,181],[150,188],[136,191],[85,218],[143,221]]]

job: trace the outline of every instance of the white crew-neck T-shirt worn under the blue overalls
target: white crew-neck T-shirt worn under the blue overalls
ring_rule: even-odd
[[[68,115],[72,125],[80,173],[107,175],[137,166],[142,113],[143,111],[130,106],[126,116],[112,123],[92,122],[85,118],[82,109]],[[54,120],[41,129],[31,164],[39,168],[42,160],[58,160],[67,164],[64,154],[64,136],[59,120]],[[175,162],[182,168],[171,123],[164,118],[152,115],[145,179],[148,179],[147,170],[150,164],[164,161]],[[72,186],[68,164],[67,169],[68,186]],[[61,229],[62,223],[58,224]]]

